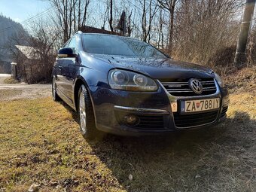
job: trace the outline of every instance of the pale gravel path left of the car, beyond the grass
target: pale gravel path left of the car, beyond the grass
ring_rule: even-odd
[[[51,95],[50,84],[5,84],[11,75],[0,74],[0,100],[35,99]]]

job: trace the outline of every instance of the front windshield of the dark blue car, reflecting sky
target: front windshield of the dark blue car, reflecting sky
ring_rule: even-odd
[[[156,48],[134,38],[114,35],[82,35],[84,51],[87,53],[166,58]]]

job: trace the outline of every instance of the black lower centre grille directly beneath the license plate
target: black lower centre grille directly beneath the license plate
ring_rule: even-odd
[[[174,113],[174,123],[178,128],[189,128],[203,126],[213,123],[218,116],[218,111],[204,112],[200,114],[178,114]]]

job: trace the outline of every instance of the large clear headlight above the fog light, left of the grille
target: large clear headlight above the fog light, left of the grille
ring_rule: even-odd
[[[158,86],[154,80],[135,72],[120,69],[111,70],[108,82],[114,90],[156,91]]]

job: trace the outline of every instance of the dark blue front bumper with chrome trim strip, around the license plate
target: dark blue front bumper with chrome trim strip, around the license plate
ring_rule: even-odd
[[[171,96],[161,84],[159,86],[159,90],[152,93],[89,87],[96,117],[96,128],[107,133],[138,136],[213,126],[226,118],[225,112],[229,104],[229,96],[226,89],[218,87],[214,96],[186,97],[186,99],[219,97],[221,107],[218,111],[215,111],[217,113],[216,118],[210,123],[180,128],[175,125],[176,116],[179,114],[178,112],[172,112],[172,110],[175,110],[172,104],[176,104],[176,107],[179,108],[179,101],[182,98]],[[135,126],[128,125],[123,121],[123,117],[126,117],[126,115],[139,117],[139,124]],[[204,116],[206,113],[199,115]]]

